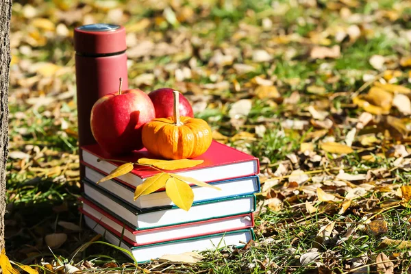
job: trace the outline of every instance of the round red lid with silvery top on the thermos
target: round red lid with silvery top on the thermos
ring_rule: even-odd
[[[91,24],[74,29],[74,49],[84,55],[125,51],[125,28],[121,25]]]

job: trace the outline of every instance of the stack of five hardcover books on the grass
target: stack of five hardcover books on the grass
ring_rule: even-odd
[[[158,173],[135,165],[130,173],[97,184],[123,164],[106,158],[99,145],[82,147],[85,166],[83,206],[86,225],[105,240],[129,250],[138,262],[165,254],[243,246],[254,237],[255,193],[260,192],[258,158],[213,141],[195,160],[202,164],[165,171],[192,177],[221,190],[191,186],[194,202],[190,210],[177,208],[160,189],[134,201],[136,186]],[[152,158],[145,150],[114,160],[137,162]]]

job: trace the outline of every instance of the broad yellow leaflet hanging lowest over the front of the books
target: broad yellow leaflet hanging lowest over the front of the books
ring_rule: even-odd
[[[170,177],[166,182],[166,194],[182,210],[188,211],[194,201],[194,193],[181,179]]]

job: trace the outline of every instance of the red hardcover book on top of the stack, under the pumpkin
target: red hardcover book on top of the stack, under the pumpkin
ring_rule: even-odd
[[[103,173],[110,173],[117,166],[123,164],[122,162],[112,160],[137,162],[140,158],[155,159],[155,157],[150,155],[146,149],[134,151],[130,153],[130,155],[123,157],[112,157],[107,155],[99,145],[87,145],[82,147],[82,158],[85,164],[94,166],[95,169],[98,169]],[[112,160],[99,161],[99,158]],[[197,158],[193,158],[193,160],[203,160],[204,162],[191,168],[164,172],[192,177],[203,182],[216,182],[225,179],[256,175],[260,171],[258,158],[214,140],[206,153],[203,153],[203,155],[200,155]],[[155,171],[155,169],[150,167],[135,165],[134,170],[131,173],[122,175],[118,179],[129,186],[136,187],[145,179],[156,173],[158,173],[158,171]]]

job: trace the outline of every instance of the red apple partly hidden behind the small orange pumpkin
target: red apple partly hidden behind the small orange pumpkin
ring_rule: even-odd
[[[167,118],[173,116],[174,99],[173,88],[159,88],[149,93],[155,109],[155,118]],[[183,95],[179,96],[180,116],[194,117],[190,102]]]

